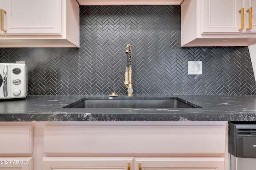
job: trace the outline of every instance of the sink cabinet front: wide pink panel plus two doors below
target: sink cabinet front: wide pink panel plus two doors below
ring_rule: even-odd
[[[46,125],[42,170],[227,170],[225,123],[176,124]]]

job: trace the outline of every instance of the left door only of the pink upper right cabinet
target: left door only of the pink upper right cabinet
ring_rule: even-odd
[[[202,34],[241,34],[242,0],[201,0]]]

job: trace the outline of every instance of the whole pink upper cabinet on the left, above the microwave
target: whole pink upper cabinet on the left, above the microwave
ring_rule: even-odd
[[[0,0],[0,47],[79,47],[76,0]]]

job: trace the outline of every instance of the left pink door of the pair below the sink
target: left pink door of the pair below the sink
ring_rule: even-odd
[[[42,170],[133,170],[133,157],[44,157]]]

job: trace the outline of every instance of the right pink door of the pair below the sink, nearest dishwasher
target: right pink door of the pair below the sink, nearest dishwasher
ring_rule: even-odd
[[[225,170],[224,158],[134,158],[134,170]]]

